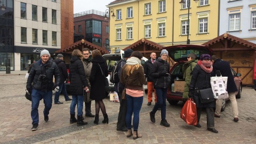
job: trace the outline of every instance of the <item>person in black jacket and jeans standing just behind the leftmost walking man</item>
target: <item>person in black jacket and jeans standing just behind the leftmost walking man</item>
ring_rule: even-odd
[[[68,78],[68,71],[67,71],[67,67],[66,67],[66,63],[63,61],[63,55],[62,54],[58,54],[57,55],[57,59],[53,60],[53,62],[55,62],[60,70],[60,89],[58,92],[55,92],[55,96],[54,96],[54,104],[63,104],[63,102],[59,101],[59,97],[60,97],[60,93],[62,92],[65,100],[66,101],[70,101],[72,99],[70,99],[68,97],[68,93],[66,90],[66,85],[65,85],[65,81]]]

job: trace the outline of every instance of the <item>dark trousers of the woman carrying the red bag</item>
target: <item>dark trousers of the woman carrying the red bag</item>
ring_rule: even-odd
[[[197,123],[200,121],[202,108],[196,108],[197,113]],[[207,128],[214,128],[214,109],[213,108],[205,108],[206,111],[206,119],[207,119]]]

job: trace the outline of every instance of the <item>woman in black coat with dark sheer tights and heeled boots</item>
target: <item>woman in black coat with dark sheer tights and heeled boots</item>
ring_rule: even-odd
[[[94,124],[99,123],[99,112],[104,116],[102,123],[108,123],[108,115],[103,103],[106,98],[105,79],[108,76],[108,69],[106,60],[102,57],[99,50],[92,51],[92,70],[90,76],[91,92],[90,99],[95,100],[95,120]]]

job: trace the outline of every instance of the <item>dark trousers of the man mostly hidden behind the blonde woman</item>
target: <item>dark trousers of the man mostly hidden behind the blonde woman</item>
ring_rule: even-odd
[[[125,99],[124,100],[122,99],[122,93],[117,93],[117,94],[119,96],[120,108],[119,108],[116,129],[125,129],[126,128],[125,118],[126,118],[126,111],[127,111],[127,101]]]

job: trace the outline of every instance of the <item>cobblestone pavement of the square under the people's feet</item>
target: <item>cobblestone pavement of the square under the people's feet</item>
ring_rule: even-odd
[[[20,74],[20,75],[18,75]],[[215,129],[219,133],[206,130],[206,113],[201,116],[201,128],[187,125],[180,118],[182,103],[167,104],[166,119],[170,127],[160,125],[161,113],[156,113],[156,123],[151,123],[149,112],[154,105],[147,106],[147,97],[143,100],[140,113],[139,132],[142,138],[126,138],[125,132],[116,131],[119,103],[105,99],[109,124],[102,124],[100,112],[99,125],[93,124],[94,118],[85,118],[89,124],[76,126],[69,124],[70,101],[63,96],[63,105],[52,105],[49,122],[43,119],[44,104],[39,105],[39,126],[31,131],[31,103],[25,95],[26,71],[0,72],[0,142],[1,143],[256,143],[256,92],[251,87],[243,87],[242,98],[237,99],[239,122],[233,122],[231,102],[220,118],[215,118]],[[94,102],[92,113],[95,114]]]

